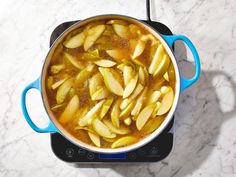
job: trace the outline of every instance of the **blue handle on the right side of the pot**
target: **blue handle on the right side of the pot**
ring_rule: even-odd
[[[201,73],[201,66],[200,65],[201,64],[200,64],[199,55],[198,55],[197,50],[194,47],[193,43],[186,36],[183,36],[183,35],[173,35],[173,36],[162,35],[162,37],[165,39],[165,41],[167,42],[167,44],[170,47],[173,46],[173,43],[176,40],[184,41],[193,54],[193,59],[195,62],[195,74],[191,79],[185,79],[180,76],[180,91],[183,92],[186,88],[188,88],[189,86],[194,84],[200,76],[200,73]]]

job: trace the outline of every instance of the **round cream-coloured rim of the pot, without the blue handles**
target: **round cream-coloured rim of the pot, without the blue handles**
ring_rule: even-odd
[[[123,20],[126,20],[126,21],[134,22],[135,24],[141,25],[143,28],[145,28],[147,31],[149,31],[152,35],[154,35],[161,42],[161,44],[164,46],[166,52],[168,53],[168,55],[169,55],[169,57],[170,57],[170,59],[173,63],[173,66],[174,66],[174,69],[175,69],[176,85],[175,85],[175,97],[174,97],[172,107],[171,107],[170,111],[168,112],[168,115],[166,116],[165,120],[161,123],[161,125],[154,132],[147,135],[145,138],[139,140],[135,144],[125,146],[125,147],[111,149],[111,148],[99,148],[99,147],[95,147],[95,146],[86,144],[83,141],[81,141],[81,140],[75,138],[74,136],[72,136],[67,130],[65,130],[63,128],[63,126],[57,121],[57,119],[53,115],[52,111],[49,109],[50,107],[49,107],[48,97],[47,97],[47,93],[46,93],[46,86],[45,86],[46,81],[45,81],[45,79],[46,79],[46,73],[47,73],[47,69],[48,69],[48,66],[49,66],[50,61],[51,61],[52,54],[54,53],[54,50],[56,49],[58,44],[60,44],[60,42],[64,39],[64,37],[68,33],[75,30],[76,28],[79,28],[79,27],[81,27],[81,26],[83,26],[83,25],[85,25],[89,22],[92,22],[92,21],[98,21],[98,20],[102,20],[102,19],[104,19],[104,20],[105,19],[114,19],[114,18],[115,19],[123,19]],[[82,147],[86,150],[97,152],[97,153],[125,153],[125,152],[135,150],[137,148],[140,148],[140,147],[144,146],[145,144],[149,143],[150,141],[152,141],[154,138],[156,138],[166,128],[166,126],[171,121],[171,119],[173,117],[173,114],[176,110],[179,95],[180,95],[180,74],[179,74],[177,61],[176,61],[176,58],[174,56],[173,50],[167,44],[167,42],[162,37],[162,35],[155,28],[153,28],[149,24],[145,23],[144,21],[138,20],[138,19],[133,18],[133,17],[125,16],[125,15],[119,15],[119,14],[104,14],[104,15],[92,16],[92,17],[89,17],[89,18],[86,18],[84,20],[76,22],[75,24],[70,26],[68,29],[66,29],[63,33],[61,33],[60,36],[53,42],[52,46],[50,47],[50,49],[47,53],[47,56],[46,56],[45,60],[44,60],[40,82],[41,82],[41,84],[40,84],[41,85],[41,97],[42,97],[42,100],[43,100],[44,108],[45,108],[45,110],[48,114],[48,117],[49,117],[50,121],[59,130],[59,133],[61,135],[63,135],[67,140],[72,142],[73,144],[75,144],[77,146],[80,146],[80,147]]]

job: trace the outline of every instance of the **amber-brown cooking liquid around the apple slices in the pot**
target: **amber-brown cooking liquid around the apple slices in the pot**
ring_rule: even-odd
[[[79,125],[79,121],[83,118],[83,116],[80,117],[81,114],[83,114],[82,109],[87,108],[87,112],[88,112],[92,107],[94,107],[101,100],[113,98],[113,102],[112,102],[108,112],[105,114],[105,116],[102,119],[99,118],[99,111],[96,113],[96,115],[98,116],[98,119],[101,120],[101,122],[103,122],[104,120],[108,120],[112,123],[112,121],[111,121],[112,107],[114,106],[117,99],[123,100],[122,96],[117,95],[117,94],[113,93],[112,91],[110,91],[109,89],[107,89],[106,84],[104,84],[104,83],[102,86],[108,90],[108,96],[106,96],[103,99],[98,99],[98,100],[91,99],[91,94],[89,91],[89,84],[90,84],[89,80],[95,74],[100,73],[100,70],[98,68],[101,67],[101,66],[94,64],[94,61],[99,60],[99,59],[105,59],[105,60],[110,60],[110,61],[115,62],[116,64],[114,66],[103,67],[103,68],[115,70],[116,74],[113,73],[115,79],[120,83],[122,88],[125,89],[127,85],[125,85],[125,83],[124,83],[124,78],[123,78],[124,73],[123,73],[122,69],[118,69],[117,66],[119,66],[120,64],[125,64],[126,66],[130,66],[134,72],[133,76],[131,77],[131,79],[133,79],[135,77],[135,74],[139,73],[140,67],[146,68],[146,70],[149,71],[149,67],[152,64],[152,61],[154,60],[154,57],[155,57],[155,52],[156,52],[158,46],[161,45],[160,42],[158,41],[158,39],[156,39],[154,36],[152,36],[148,31],[143,29],[141,26],[137,26],[136,24],[135,25],[130,24],[129,22],[126,22],[123,20],[121,22],[124,22],[125,25],[123,23],[119,24],[120,23],[119,20],[118,20],[118,22],[114,22],[112,24],[107,24],[107,23],[109,23],[108,21],[110,21],[110,20],[103,20],[103,21],[98,21],[98,22],[87,24],[86,26],[76,29],[76,30],[72,31],[69,35],[67,35],[66,38],[64,39],[64,43],[59,44],[59,46],[57,47],[57,49],[55,50],[55,52],[53,54],[53,57],[51,59],[51,63],[48,67],[47,79],[46,79],[46,81],[47,81],[47,84],[46,84],[47,90],[46,91],[47,91],[49,105],[51,107],[52,112],[54,113],[54,116],[57,118],[58,122],[72,136],[74,136],[75,138],[85,142],[86,144],[92,145],[92,146],[95,146],[95,144],[91,140],[91,138],[89,137],[88,131],[84,130],[84,129],[76,129],[76,127],[78,127],[78,126],[83,127],[83,126]],[[117,33],[114,30],[114,28],[115,28],[114,25],[117,25],[117,24],[124,26],[125,29],[128,29],[129,31],[127,32],[127,34],[124,34],[122,36],[122,34],[120,34],[119,32]],[[92,35],[91,34],[92,32],[91,33],[88,32],[89,29],[92,29],[98,25],[105,25],[105,30],[99,35],[99,37],[95,40],[95,42],[86,51],[85,51],[84,45],[83,45],[84,42],[79,47],[75,47],[75,48],[66,47],[65,41],[70,41],[70,39],[72,39],[74,36],[76,36],[82,32],[85,33],[84,40],[86,40],[86,36]],[[133,26],[133,28],[132,28],[132,26]],[[143,43],[145,45],[145,48],[143,49],[141,54],[135,58],[135,60],[138,61],[138,64],[137,64],[137,62],[134,62],[134,60],[132,58],[132,54],[134,54],[135,47],[137,46],[137,41],[139,41],[142,36],[148,36],[148,35],[150,35],[152,37],[151,38],[146,37],[147,39],[145,39],[145,37],[143,37],[142,40],[144,41]],[[133,44],[131,41],[133,41]],[[113,50],[113,49],[115,49],[115,50],[118,49],[119,51],[121,51],[122,58],[113,57],[106,52],[107,50]],[[95,54],[95,56],[97,57],[97,58],[95,57],[96,59],[94,59],[94,58],[88,59],[85,57],[85,55],[84,55],[85,53],[94,54],[95,53],[94,51],[98,51],[98,53],[99,53],[99,56],[97,56]],[[79,61],[79,64],[81,65],[82,68],[78,68],[73,63],[68,61],[68,58],[66,58],[65,53],[72,56],[74,59],[76,59],[76,61]],[[165,51],[164,51],[164,53],[167,54]],[[168,66],[164,66],[166,69],[164,69],[163,72],[160,72],[160,75],[153,76],[153,74],[148,73],[148,78],[146,78],[145,83],[141,83],[140,76],[139,76],[136,87],[139,83],[143,86],[144,89],[146,88],[146,90],[147,90],[147,94],[144,96],[143,104],[142,104],[142,107],[139,111],[139,114],[142,112],[142,110],[146,106],[149,105],[148,99],[150,99],[150,97],[152,96],[153,91],[159,91],[161,93],[161,95],[157,99],[157,101],[155,101],[152,104],[155,104],[157,102],[162,104],[163,98],[166,94],[164,87],[167,87],[168,89],[171,89],[173,91],[175,90],[175,73],[173,70],[173,64],[171,63],[170,59],[169,59],[169,61],[170,62],[168,63]],[[59,66],[59,65],[62,66],[62,69],[59,69],[59,72],[53,71],[52,67]],[[93,69],[90,71],[91,73],[89,74],[89,77],[86,78],[83,83],[79,84],[79,86],[76,84],[73,84],[73,86],[69,89],[68,93],[66,93],[66,96],[65,96],[64,100],[62,101],[62,103],[58,103],[56,97],[57,97],[58,90],[60,89],[60,87],[62,87],[63,84],[68,79],[70,79],[70,78],[75,79],[76,76],[81,72],[81,70],[83,70],[83,68],[86,68],[87,66],[90,66],[90,65],[93,66]],[[118,73],[118,75],[117,75],[117,73]],[[62,84],[60,84],[58,87],[56,87],[54,89],[52,88],[53,84],[60,82],[63,79],[65,81],[62,82]],[[104,82],[104,78],[103,78],[103,82]],[[144,89],[133,100],[137,101],[137,99],[142,95]],[[132,93],[127,98],[129,98],[132,95]],[[77,107],[76,112],[73,113],[73,116],[66,118],[68,120],[60,121],[63,112],[65,111],[66,107],[68,106],[68,103],[75,95],[77,95],[78,99],[79,99],[79,106]],[[134,107],[132,108],[132,110],[133,109],[134,109]],[[85,112],[84,114],[86,115],[86,111],[84,111],[84,112]],[[122,109],[119,109],[119,112],[121,113]],[[123,145],[121,145],[121,146],[127,146],[129,144],[133,144],[133,143],[140,141],[144,137],[148,136],[155,129],[157,129],[160,126],[160,124],[164,121],[166,115],[168,114],[168,111],[162,115],[151,116],[146,121],[146,123],[144,124],[144,126],[142,127],[141,130],[138,130],[137,125],[136,125],[136,121],[137,121],[136,119],[139,116],[139,114],[137,114],[136,116],[132,116],[130,113],[126,117],[119,118],[119,125],[127,128],[129,130],[129,133],[126,133],[124,135],[120,135],[120,134],[116,134],[115,132],[111,131],[113,134],[114,133],[116,134],[115,138],[108,139],[106,137],[101,136],[100,133],[96,132],[93,129],[91,122],[88,125],[86,125],[85,127],[91,129],[92,132],[99,138],[100,147],[102,147],[102,148],[111,148],[113,142],[118,140],[121,137],[126,137],[126,136],[135,137],[134,141],[132,141],[130,143],[129,142],[123,143]],[[124,119],[126,119],[126,118],[131,119],[130,125],[127,125],[124,123]],[[145,128],[145,126],[148,125],[149,121],[153,121],[153,119],[158,120],[159,123],[156,123],[156,127],[154,128],[154,130],[152,130],[151,132],[148,132],[146,130],[148,130],[148,129],[150,130],[152,128],[149,128],[149,127]],[[149,124],[149,126],[151,126],[151,124]],[[117,129],[119,129],[119,127],[117,127]],[[114,148],[116,148],[116,147],[114,147]]]

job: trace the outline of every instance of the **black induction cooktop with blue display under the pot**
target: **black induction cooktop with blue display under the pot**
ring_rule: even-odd
[[[78,21],[65,22],[55,28],[50,38],[50,46],[67,28]],[[159,33],[172,35],[170,29],[162,23],[145,21]],[[171,152],[174,140],[174,117],[165,130],[153,141],[134,151],[119,154],[100,154],[90,152],[68,141],[59,133],[52,133],[51,148],[61,160],[74,163],[120,163],[120,162],[157,162]]]

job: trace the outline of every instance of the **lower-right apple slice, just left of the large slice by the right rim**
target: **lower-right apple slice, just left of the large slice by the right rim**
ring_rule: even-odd
[[[136,120],[136,127],[140,131],[143,126],[146,124],[148,119],[151,117],[152,112],[155,109],[155,104],[151,104],[143,108],[143,110],[139,113],[137,120]]]

